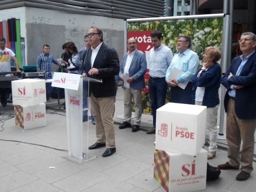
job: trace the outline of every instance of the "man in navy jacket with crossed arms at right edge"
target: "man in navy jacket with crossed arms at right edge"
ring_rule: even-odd
[[[238,170],[241,165],[236,180],[244,181],[253,170],[256,128],[256,35],[251,32],[243,33],[239,44],[243,54],[233,59],[221,80],[227,89],[224,105],[227,113],[226,139],[229,161],[218,165],[218,168]]]

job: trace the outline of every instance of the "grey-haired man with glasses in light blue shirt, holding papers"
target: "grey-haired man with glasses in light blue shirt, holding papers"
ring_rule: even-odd
[[[165,75],[165,81],[171,86],[170,102],[172,103],[192,104],[191,79],[196,73],[199,58],[195,52],[189,49],[190,47],[191,38],[189,36],[178,36],[177,49],[179,52],[174,55]],[[185,73],[180,75],[177,79],[169,79],[169,75],[174,66]],[[179,82],[183,83],[185,81],[189,81],[185,89],[181,89],[177,86]]]

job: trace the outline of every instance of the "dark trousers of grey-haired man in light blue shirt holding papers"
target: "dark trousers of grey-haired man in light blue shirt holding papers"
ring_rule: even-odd
[[[185,89],[171,87],[171,103],[192,104],[192,83],[188,82]]]

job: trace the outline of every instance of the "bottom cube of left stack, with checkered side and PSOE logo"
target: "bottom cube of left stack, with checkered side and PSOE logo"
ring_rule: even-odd
[[[46,126],[46,104],[35,106],[14,105],[15,124],[22,129]]]

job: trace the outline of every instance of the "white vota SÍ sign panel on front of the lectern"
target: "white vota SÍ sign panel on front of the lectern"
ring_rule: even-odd
[[[78,90],[80,74],[54,72],[52,87]]]

